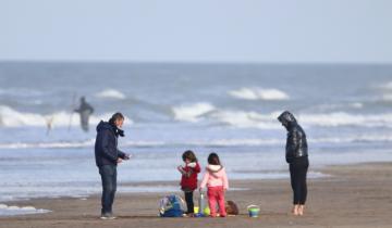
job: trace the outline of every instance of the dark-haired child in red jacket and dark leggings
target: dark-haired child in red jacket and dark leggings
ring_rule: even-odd
[[[197,174],[200,173],[200,166],[197,163],[196,155],[193,151],[185,151],[182,159],[185,164],[177,167],[179,172],[182,174],[180,185],[181,190],[183,190],[185,194],[187,206],[186,214],[192,217],[194,215],[193,192],[197,189]]]

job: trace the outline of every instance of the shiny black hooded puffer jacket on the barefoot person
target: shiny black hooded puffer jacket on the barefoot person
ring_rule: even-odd
[[[308,156],[306,134],[298,125],[293,114],[283,112],[278,119],[287,129],[287,141],[285,148],[285,159],[292,163],[294,159]]]

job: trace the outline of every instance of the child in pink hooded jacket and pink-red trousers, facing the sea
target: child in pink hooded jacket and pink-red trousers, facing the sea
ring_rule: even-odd
[[[220,216],[225,217],[224,192],[229,188],[229,181],[224,167],[221,165],[216,153],[210,153],[208,156],[208,166],[200,183],[200,191],[206,186],[211,217],[217,217],[217,201]]]

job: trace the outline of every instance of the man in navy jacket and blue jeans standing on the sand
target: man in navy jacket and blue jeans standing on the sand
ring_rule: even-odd
[[[97,126],[95,159],[102,180],[101,219],[114,219],[112,205],[117,190],[117,165],[130,155],[118,149],[119,136],[124,137],[121,129],[124,116],[114,113],[109,122],[101,121]]]

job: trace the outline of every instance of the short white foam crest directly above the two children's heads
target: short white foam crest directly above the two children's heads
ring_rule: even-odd
[[[200,116],[213,111],[216,107],[207,102],[199,102],[188,105],[180,105],[172,109],[174,119],[185,122],[198,122]]]

